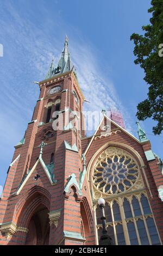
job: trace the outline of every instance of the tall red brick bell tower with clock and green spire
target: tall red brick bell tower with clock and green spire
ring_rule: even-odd
[[[38,85],[40,96],[15,146],[0,201],[0,244],[95,244],[81,145],[84,96],[67,36],[58,65],[52,60]]]

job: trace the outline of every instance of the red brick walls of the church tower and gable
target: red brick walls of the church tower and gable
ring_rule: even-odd
[[[58,85],[61,86],[60,91],[49,95],[49,88]],[[73,92],[76,92],[79,102]],[[61,123],[62,117],[65,120],[65,107],[78,111],[81,126],[79,131],[71,127],[54,131],[52,122],[45,123],[46,106],[57,99],[60,99],[61,111],[57,122]],[[111,131],[118,129],[120,132],[99,138],[99,130],[95,136],[85,137],[85,131],[82,130],[83,101],[83,94],[72,71],[40,82],[40,96],[33,120],[28,124],[24,143],[15,148],[12,159],[15,161],[9,168],[0,200],[0,245],[97,244],[96,217],[91,196],[92,169],[98,156],[111,146],[127,150],[139,163],[155,223],[163,241],[163,206],[158,197],[158,188],[163,185],[163,178],[158,159],[146,159],[145,151],[151,149],[149,141],[139,142],[114,122],[111,124]],[[70,120],[73,121],[73,118]],[[50,182],[40,162],[33,169],[40,153],[37,146],[42,141],[47,143],[42,155],[46,165],[51,162],[54,154],[53,182]],[[65,146],[65,141],[70,147]],[[73,145],[77,148],[73,148]],[[84,169],[82,153],[85,153],[87,173],[80,191],[80,173]],[[35,180],[37,174],[40,177]],[[72,178],[72,174],[76,178]],[[73,182],[71,179],[74,179]]]

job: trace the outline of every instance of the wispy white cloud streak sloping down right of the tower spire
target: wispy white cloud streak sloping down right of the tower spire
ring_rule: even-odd
[[[96,51],[90,51],[84,42],[82,46],[78,42],[75,42],[75,45],[76,47],[71,47],[71,51],[77,66],[78,80],[86,99],[91,102],[85,104],[85,109],[87,111],[101,111],[102,109],[109,111],[111,109],[113,112],[122,113],[126,129],[132,133],[133,120],[122,105],[114,83],[103,72]]]

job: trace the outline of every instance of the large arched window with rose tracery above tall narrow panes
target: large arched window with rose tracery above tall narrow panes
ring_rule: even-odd
[[[92,172],[97,241],[102,234],[101,209],[105,199],[106,229],[116,245],[160,245],[139,164],[128,151],[109,147],[96,160]]]

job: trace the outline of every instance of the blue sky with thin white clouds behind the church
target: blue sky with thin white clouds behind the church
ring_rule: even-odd
[[[134,64],[133,32],[149,22],[149,0],[0,0],[0,185],[4,185],[14,145],[31,120],[41,81],[65,35],[80,87],[91,104],[85,110],[118,109],[136,136],[136,105],[146,98],[143,70]],[[154,122],[140,123],[162,158],[163,135]]]

